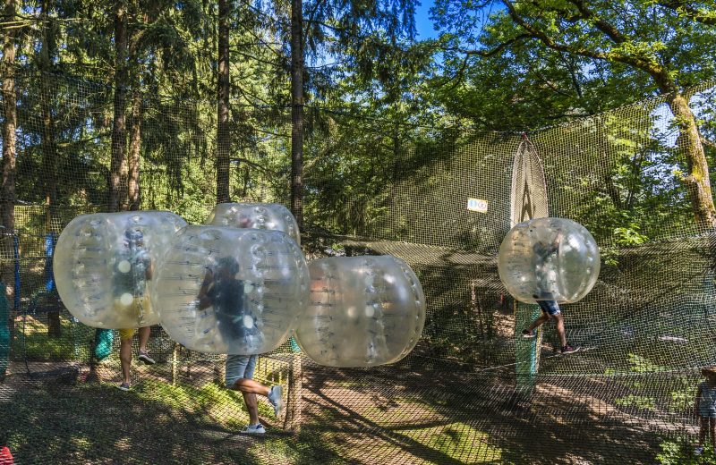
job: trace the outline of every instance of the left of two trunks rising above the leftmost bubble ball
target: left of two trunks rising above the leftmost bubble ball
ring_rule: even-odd
[[[116,212],[124,203],[126,182],[126,123],[125,110],[127,70],[127,16],[123,0],[116,3],[115,12],[115,119],[112,126],[112,158],[109,164],[109,210]],[[124,172],[124,173],[123,173]]]

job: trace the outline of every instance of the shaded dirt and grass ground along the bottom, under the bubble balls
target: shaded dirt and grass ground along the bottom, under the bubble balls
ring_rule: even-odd
[[[264,414],[269,432],[255,437],[237,433],[245,416],[228,407],[143,392],[142,383],[168,385],[166,368],[142,368],[130,393],[114,388],[111,366],[101,385],[83,382],[87,369],[77,364],[30,368],[32,376],[13,364],[0,385],[0,430],[19,464],[653,463],[663,437],[695,433],[678,415],[618,405],[633,383],[545,377],[520,396],[507,374],[306,364],[300,431]],[[214,375],[189,377],[197,386]]]

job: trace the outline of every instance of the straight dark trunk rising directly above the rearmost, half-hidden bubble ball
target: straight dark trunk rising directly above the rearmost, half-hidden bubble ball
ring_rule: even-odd
[[[229,5],[218,0],[217,203],[229,201]]]

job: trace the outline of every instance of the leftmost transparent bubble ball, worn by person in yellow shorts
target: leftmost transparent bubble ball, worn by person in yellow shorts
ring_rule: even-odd
[[[159,322],[150,294],[156,264],[186,222],[164,211],[74,218],[57,239],[53,270],[64,306],[85,325],[128,329]]]

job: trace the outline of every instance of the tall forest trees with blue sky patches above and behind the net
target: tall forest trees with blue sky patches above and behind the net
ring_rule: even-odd
[[[386,186],[436,182],[408,167],[443,163],[470,134],[661,96],[634,116],[647,129],[600,120],[596,151],[618,156],[590,191],[609,204],[598,232],[629,244],[664,218],[716,226],[712,2],[437,0],[430,39],[417,6],[4,2],[3,224],[22,205],[46,206],[56,229],[68,207],[201,221],[216,201],[254,199],[302,223],[305,210],[311,227],[406,237],[377,224]]]

